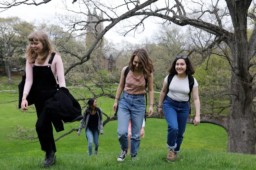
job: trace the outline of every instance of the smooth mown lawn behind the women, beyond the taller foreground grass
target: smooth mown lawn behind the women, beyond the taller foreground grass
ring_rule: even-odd
[[[80,89],[75,89],[80,90]],[[85,92],[85,91],[83,91]],[[88,92],[85,95],[89,96]],[[9,95],[10,96],[10,95]],[[17,95],[14,95],[17,98]],[[13,100],[12,97],[7,97],[0,93],[0,100]],[[114,103],[113,99],[101,97],[98,99],[98,106],[108,114],[113,115],[112,106]],[[37,120],[36,113],[24,113],[16,108],[17,102],[1,104],[0,107],[0,158],[8,157],[23,157],[24,155],[30,157],[38,157],[43,154],[40,150],[39,142],[30,143],[26,145],[16,145],[12,142],[19,142],[17,140],[9,141],[6,134],[12,133],[13,130],[10,128],[15,124],[22,125],[23,127],[34,128]],[[29,111],[32,111],[32,107],[29,106]],[[106,117],[103,117],[106,119]],[[54,130],[54,137],[57,138],[60,135],[70,131],[72,128],[78,128],[79,122],[65,124],[64,131],[56,132]],[[100,136],[100,150],[101,151],[120,151],[120,146],[117,138],[117,121],[107,123],[103,130],[104,135]],[[147,119],[145,127],[145,138],[141,139],[140,151],[155,150],[155,149],[166,149],[166,136],[167,136],[167,124],[164,119]],[[20,144],[30,142],[22,141]],[[81,136],[78,136],[76,132],[61,138],[56,142],[58,153],[82,154],[87,152],[87,140],[85,137],[84,129],[82,130]],[[181,145],[181,149],[207,149],[210,151],[222,151],[225,152],[227,148],[227,133],[226,131],[216,125],[212,124],[200,124],[193,126],[187,124],[186,131],[184,133],[184,140]]]

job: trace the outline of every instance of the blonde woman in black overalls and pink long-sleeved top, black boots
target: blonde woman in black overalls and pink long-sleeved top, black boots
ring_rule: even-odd
[[[41,149],[46,152],[44,167],[54,164],[56,146],[50,116],[41,114],[45,101],[50,99],[60,87],[66,87],[64,68],[60,55],[51,45],[46,33],[35,31],[28,37],[30,44],[26,49],[26,81],[21,101],[21,109],[27,110],[32,102],[37,113],[36,131]],[[58,76],[58,79],[57,79]],[[29,97],[28,97],[29,95]],[[27,97],[31,100],[28,102]],[[39,122],[41,121],[41,122]],[[38,124],[43,126],[38,126]]]

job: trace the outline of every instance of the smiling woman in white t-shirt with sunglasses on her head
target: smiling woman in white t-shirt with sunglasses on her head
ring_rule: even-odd
[[[177,153],[180,152],[180,145],[183,140],[183,133],[185,132],[190,112],[189,78],[192,79],[192,81],[194,80],[193,88],[191,85],[192,97],[196,110],[194,126],[200,123],[200,101],[198,95],[198,83],[192,76],[195,71],[187,56],[177,55],[168,72],[170,73],[170,77],[173,78],[169,87],[169,75],[164,79],[163,88],[159,97],[158,112],[160,115],[163,115],[164,113],[168,124],[167,147],[169,148],[169,151],[166,160],[174,161],[174,159],[178,158]]]

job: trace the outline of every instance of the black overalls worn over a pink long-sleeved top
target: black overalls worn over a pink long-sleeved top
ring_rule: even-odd
[[[56,146],[53,138],[53,128],[50,115],[41,114],[45,107],[45,101],[54,96],[59,89],[59,85],[56,83],[56,79],[52,73],[51,64],[55,53],[52,53],[51,59],[47,66],[36,66],[33,62],[33,85],[31,90],[34,94],[35,108],[37,113],[36,132],[41,144],[41,149],[46,151],[52,147],[52,150],[56,152]],[[37,124],[43,124],[43,126],[37,127]]]

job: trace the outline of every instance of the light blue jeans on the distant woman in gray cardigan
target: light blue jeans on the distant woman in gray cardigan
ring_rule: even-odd
[[[92,155],[92,141],[94,143],[94,150],[98,150],[99,147],[99,132],[98,129],[91,130],[86,128],[85,133],[88,140],[89,155]]]

